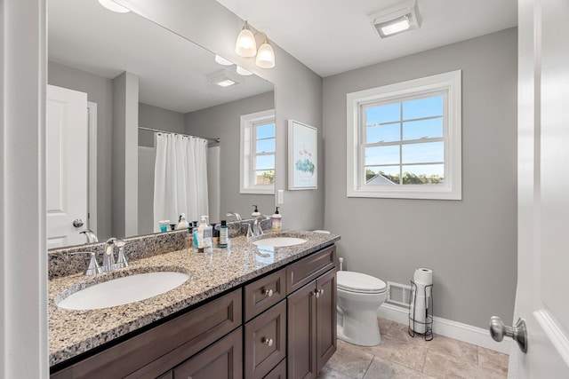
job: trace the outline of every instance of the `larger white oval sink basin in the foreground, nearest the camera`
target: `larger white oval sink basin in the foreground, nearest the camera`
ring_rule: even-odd
[[[56,301],[56,305],[63,309],[86,311],[129,304],[164,294],[188,279],[189,276],[182,272],[139,273],[84,288]]]

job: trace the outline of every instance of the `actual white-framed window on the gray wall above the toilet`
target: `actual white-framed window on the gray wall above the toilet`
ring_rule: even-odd
[[[348,196],[461,200],[461,71],[348,94]]]

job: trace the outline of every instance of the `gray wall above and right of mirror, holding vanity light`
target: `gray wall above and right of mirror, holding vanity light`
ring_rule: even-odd
[[[322,138],[322,78],[286,51],[272,43],[276,67],[255,67],[253,59],[238,57],[235,38],[244,20],[212,0],[116,0],[143,17],[171,29],[180,36],[230,59],[276,85],[276,188],[286,188],[286,121],[293,119],[316,127]],[[268,36],[270,38],[270,36]],[[319,162],[323,162],[320,149]],[[320,174],[323,168],[320,168]],[[316,229],[324,225],[324,175],[318,189],[285,191],[281,207],[283,226]]]

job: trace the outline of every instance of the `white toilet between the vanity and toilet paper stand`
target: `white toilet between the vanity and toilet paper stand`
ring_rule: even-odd
[[[365,273],[339,271],[337,293],[338,338],[360,346],[381,343],[377,309],[387,299],[385,282]]]

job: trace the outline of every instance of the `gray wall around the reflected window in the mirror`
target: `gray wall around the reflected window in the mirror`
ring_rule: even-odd
[[[186,114],[186,132],[201,137],[221,138],[220,142],[220,211],[226,219],[228,211],[244,218],[251,217],[252,204],[263,215],[272,215],[275,197],[268,194],[239,193],[239,139],[242,114],[275,107],[275,93],[268,92]]]

